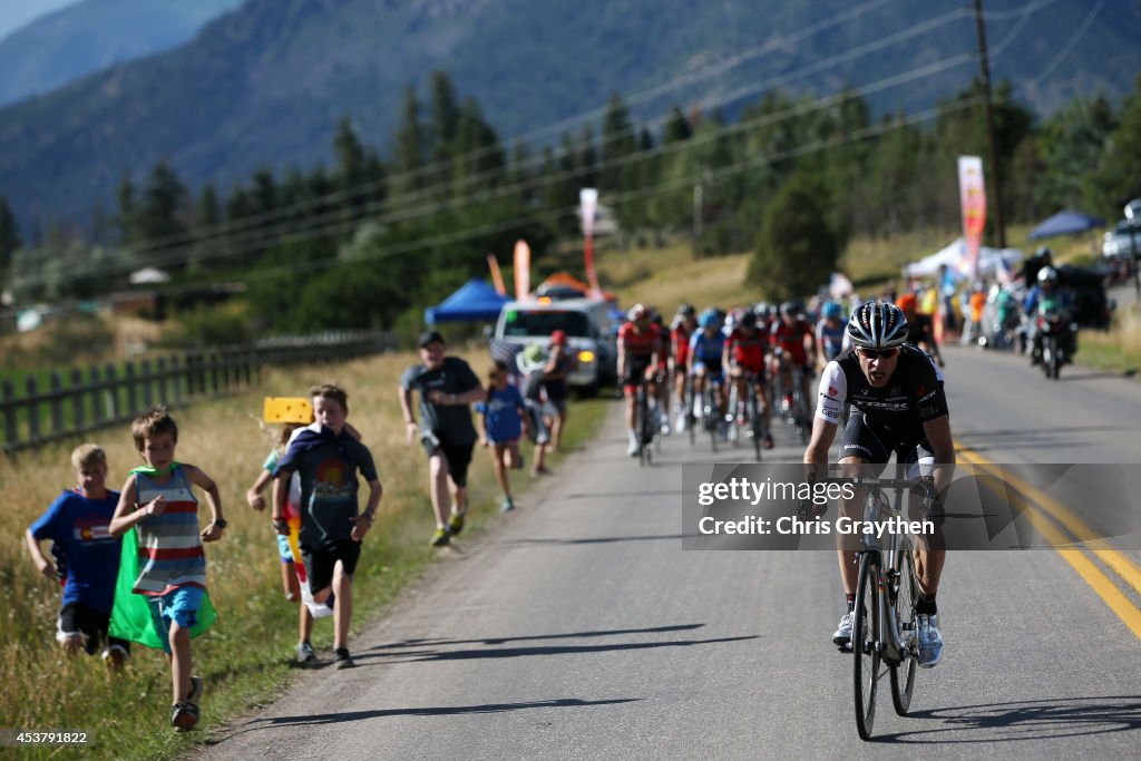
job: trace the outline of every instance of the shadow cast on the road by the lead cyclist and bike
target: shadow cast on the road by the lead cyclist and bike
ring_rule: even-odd
[[[880,743],[1001,743],[1081,737],[1141,729],[1141,696],[1019,701],[915,711],[908,719],[939,722],[924,729],[874,737]],[[987,730],[986,736],[955,732]]]

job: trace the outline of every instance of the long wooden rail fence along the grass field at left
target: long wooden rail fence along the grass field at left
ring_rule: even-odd
[[[341,362],[395,346],[391,333],[324,333],[153,362],[27,373],[23,383],[0,382],[2,448],[15,452],[122,423],[155,404],[173,407],[252,388],[266,366]]]

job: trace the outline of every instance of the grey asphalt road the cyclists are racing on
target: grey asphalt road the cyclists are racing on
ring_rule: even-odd
[[[947,358],[956,437],[992,461],[1141,461],[1141,384]],[[799,461],[776,432],[767,459]],[[952,554],[946,657],[908,718],[884,686],[864,743],[830,641],[834,553],[682,551],[680,464],[717,459],[673,436],[640,469],[624,445],[615,405],[596,444],[353,642],[356,669],[306,674],[204,758],[1141,756],[1141,641],[1059,552]]]

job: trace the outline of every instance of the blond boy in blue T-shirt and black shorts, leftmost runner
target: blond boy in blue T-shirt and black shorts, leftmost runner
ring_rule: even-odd
[[[56,497],[24,539],[41,574],[55,580],[63,572],[56,640],[68,654],[83,648],[95,655],[105,643],[103,658],[119,671],[130,654],[130,642],[107,637],[120,556],[120,541],[111,535],[108,525],[119,492],[107,489],[107,455],[98,445],[78,447],[72,452],[72,465],[78,487]],[[43,540],[51,540],[54,549],[60,550],[62,568],[44,557],[40,548]]]

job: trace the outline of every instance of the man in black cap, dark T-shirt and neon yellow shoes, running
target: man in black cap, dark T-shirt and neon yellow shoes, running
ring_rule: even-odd
[[[463,531],[468,510],[468,465],[476,446],[469,404],[486,397],[479,378],[459,357],[445,356],[444,337],[420,335],[420,359],[400,375],[400,408],[408,444],[420,440],[428,454],[429,487],[436,532],[432,547],[444,547]],[[412,411],[412,391],[420,392],[420,422]],[[444,500],[451,493],[452,509]]]

